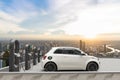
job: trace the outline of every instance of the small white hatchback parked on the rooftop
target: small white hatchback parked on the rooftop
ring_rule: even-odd
[[[45,71],[97,71],[99,64],[100,62],[97,57],[89,56],[75,47],[53,47],[43,56],[41,61],[41,66]]]

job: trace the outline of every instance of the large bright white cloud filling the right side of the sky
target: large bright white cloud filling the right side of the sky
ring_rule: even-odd
[[[55,22],[70,35],[96,35],[120,31],[119,0],[67,0],[53,9]]]

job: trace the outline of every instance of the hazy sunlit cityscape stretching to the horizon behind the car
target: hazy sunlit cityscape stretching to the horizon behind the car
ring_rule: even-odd
[[[25,46],[27,44],[40,48],[41,57],[46,54],[52,47],[76,47],[80,48],[88,55],[96,56],[99,58],[119,58],[120,52],[116,49],[119,47],[120,41],[82,41],[82,40],[19,40],[19,52],[21,55],[25,54]],[[111,48],[114,48],[112,51]],[[6,67],[9,64],[9,50],[10,50],[10,40],[0,41],[0,68]]]

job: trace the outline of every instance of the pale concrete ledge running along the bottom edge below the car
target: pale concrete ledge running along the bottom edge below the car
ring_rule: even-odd
[[[120,73],[0,73],[0,80],[120,80]]]

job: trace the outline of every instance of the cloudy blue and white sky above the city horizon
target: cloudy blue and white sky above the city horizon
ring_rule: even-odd
[[[0,0],[0,38],[120,40],[120,0]]]

